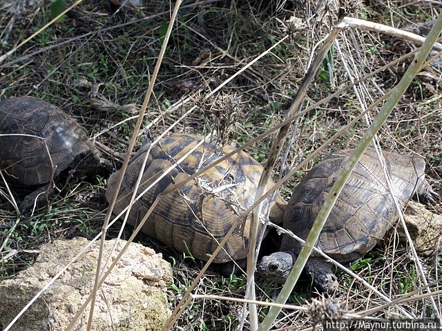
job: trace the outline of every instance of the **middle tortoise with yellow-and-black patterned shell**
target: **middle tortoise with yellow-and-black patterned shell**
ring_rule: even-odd
[[[201,140],[202,137],[191,134],[172,134],[161,139],[148,154],[138,193],[144,191],[165,170],[175,165],[175,161]],[[144,144],[128,165],[113,210],[115,214],[122,212],[128,205],[149,146],[149,143]],[[204,142],[133,205],[128,223],[136,226],[158,194],[232,150],[229,146],[217,148],[215,143]],[[262,166],[249,155],[244,152],[234,154],[197,179],[189,181],[182,188],[164,195],[144,223],[142,232],[175,250],[190,252],[196,259],[206,261],[236,219],[253,204],[261,172]],[[108,180],[106,190],[108,201],[113,197],[118,176],[119,172],[116,172]],[[272,221],[282,221],[286,204],[280,195],[276,197],[276,203],[272,203],[271,206]],[[268,208],[267,201],[264,203],[264,212],[267,212]],[[227,263],[231,259],[235,261],[245,259],[248,236],[249,217],[239,222],[224,245],[224,250],[220,251],[213,262]],[[224,269],[225,271],[227,270]]]

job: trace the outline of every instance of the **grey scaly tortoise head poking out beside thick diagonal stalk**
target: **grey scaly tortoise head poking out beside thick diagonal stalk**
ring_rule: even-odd
[[[262,257],[258,265],[261,276],[275,283],[285,283],[291,268],[296,261],[296,256],[289,252],[275,252],[267,257]]]

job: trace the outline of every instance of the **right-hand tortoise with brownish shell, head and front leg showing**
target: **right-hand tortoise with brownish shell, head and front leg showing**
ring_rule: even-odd
[[[320,162],[302,178],[294,189],[285,210],[283,225],[306,239],[327,193],[338,176],[349,151],[341,151]],[[417,155],[383,152],[395,195],[404,206],[414,193],[425,191],[425,161]],[[419,193],[419,192],[418,192]],[[398,212],[387,188],[376,150],[367,149],[339,195],[320,233],[317,248],[339,262],[356,261],[374,248],[394,222]],[[265,277],[283,283],[302,248],[285,234],[280,252],[263,257],[258,269]],[[309,272],[318,288],[332,292],[337,287],[333,266],[318,253],[307,261]]]

